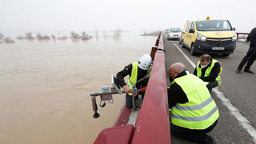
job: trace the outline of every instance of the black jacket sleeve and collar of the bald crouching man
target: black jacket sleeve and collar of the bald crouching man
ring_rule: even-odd
[[[186,76],[187,73],[184,71],[182,71],[178,76],[176,76],[174,79],[179,78],[181,76]],[[168,93],[168,106],[169,108],[172,108],[173,106],[175,106],[178,103],[180,104],[184,104],[188,102],[188,97],[186,95],[186,93],[182,90],[182,88],[180,87],[180,85],[178,85],[177,83],[173,83],[170,88],[167,91]]]

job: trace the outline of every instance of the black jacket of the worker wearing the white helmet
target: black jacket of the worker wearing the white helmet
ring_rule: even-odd
[[[140,68],[138,68],[137,80],[146,76],[147,73],[148,73],[148,70],[141,70]],[[124,69],[122,71],[120,71],[116,74],[116,79],[121,87],[126,85],[126,83],[124,82],[124,77],[128,76],[128,75],[129,76],[132,75],[132,63],[129,64],[128,66],[124,67]],[[140,81],[138,84],[136,84],[136,88],[140,89],[140,88],[146,87],[148,84],[148,79],[149,79],[149,77]]]

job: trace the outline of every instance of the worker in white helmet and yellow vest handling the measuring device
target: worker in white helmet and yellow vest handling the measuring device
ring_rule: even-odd
[[[132,96],[135,96],[135,99],[138,99],[138,95],[140,94],[143,100],[145,92],[132,94],[132,88],[140,89],[148,85],[148,79],[152,68],[151,62],[151,56],[144,54],[140,57],[139,61],[129,64],[116,74],[118,83],[126,92],[126,107],[132,108]],[[125,76],[128,76],[127,84],[124,82]]]

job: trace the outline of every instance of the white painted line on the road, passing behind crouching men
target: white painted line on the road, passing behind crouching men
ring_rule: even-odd
[[[173,41],[172,41],[173,42]],[[178,50],[183,54],[183,56],[188,60],[188,62],[196,68],[195,63],[188,58],[188,56],[175,44],[173,43]],[[250,122],[240,114],[239,110],[234,107],[231,102],[224,96],[222,92],[218,90],[218,88],[212,89],[213,92],[217,94],[217,97],[222,101],[222,103],[229,109],[230,113],[236,117],[238,122],[243,126],[243,128],[251,135],[252,140],[256,143],[256,130],[252,127]]]

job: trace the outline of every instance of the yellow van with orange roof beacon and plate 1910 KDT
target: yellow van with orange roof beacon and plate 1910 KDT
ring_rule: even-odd
[[[228,56],[236,48],[235,33],[228,20],[193,20],[185,23],[181,34],[182,48],[190,48],[190,54],[214,53]]]

